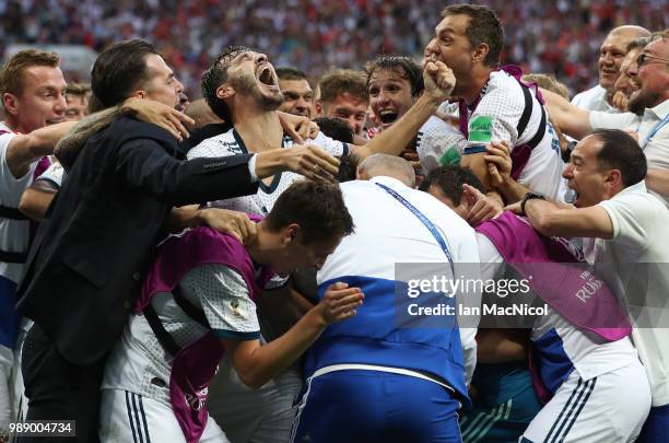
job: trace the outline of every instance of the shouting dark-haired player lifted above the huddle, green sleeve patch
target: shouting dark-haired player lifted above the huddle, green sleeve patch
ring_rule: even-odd
[[[510,179],[495,184],[504,199],[517,201],[528,187],[560,199],[565,185],[558,138],[519,70],[497,70],[504,31],[495,12],[480,4],[454,4],[442,15],[423,62],[441,60],[454,67],[451,97],[459,100],[461,135],[432,155],[441,159],[456,148],[462,166],[471,167],[491,189],[489,173],[495,165],[486,161],[486,149],[493,140],[504,142],[513,150]]]

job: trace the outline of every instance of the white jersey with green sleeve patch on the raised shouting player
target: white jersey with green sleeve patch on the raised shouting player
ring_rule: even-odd
[[[469,142],[488,143],[491,140],[508,141],[512,147],[529,142],[541,123],[541,104],[532,91],[532,114],[521,135],[517,126],[525,109],[523,86],[504,71],[490,74],[481,91],[481,100],[473,112],[469,110],[469,139],[460,136],[456,142],[462,152]],[[548,115],[548,114],[547,114]],[[518,177],[521,185],[545,195],[553,200],[563,200],[566,180],[562,178],[564,162],[560,153],[560,141],[547,121],[543,138],[532,150]]]

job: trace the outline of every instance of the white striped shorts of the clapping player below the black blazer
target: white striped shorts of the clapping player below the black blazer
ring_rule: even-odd
[[[122,389],[103,389],[99,410],[101,443],[186,443],[172,407]],[[201,443],[230,443],[211,417]]]

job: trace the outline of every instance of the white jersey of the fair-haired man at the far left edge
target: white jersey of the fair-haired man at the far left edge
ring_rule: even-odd
[[[33,174],[37,162],[31,164],[25,175],[19,178],[14,177],[7,164],[7,149],[15,135],[4,124],[0,124],[0,130],[9,131],[9,133],[0,136],[0,205],[19,208],[23,191],[33,183]],[[26,253],[28,235],[28,221],[0,218],[0,249],[10,253]],[[0,276],[17,283],[22,272],[22,264],[0,261]]]

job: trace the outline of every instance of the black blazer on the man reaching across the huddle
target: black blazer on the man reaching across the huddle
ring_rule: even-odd
[[[91,137],[43,221],[19,312],[78,364],[119,338],[173,206],[255,194],[249,155],[181,161],[165,130],[121,117]]]

